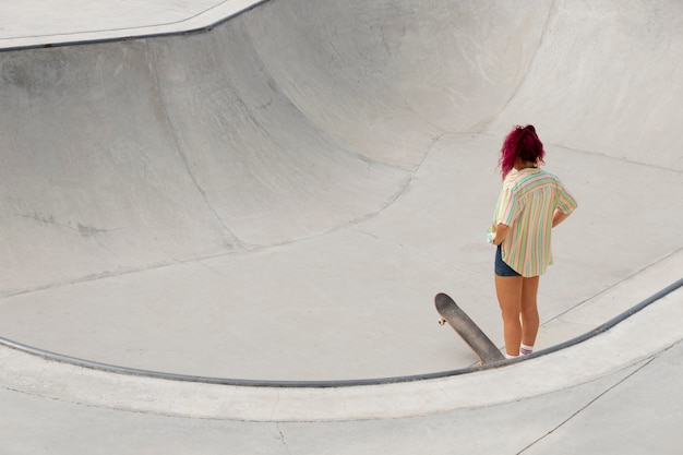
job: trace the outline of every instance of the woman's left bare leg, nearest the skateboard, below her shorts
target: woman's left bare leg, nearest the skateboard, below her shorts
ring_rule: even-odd
[[[495,275],[495,294],[503,315],[505,351],[518,356],[522,345],[522,296],[524,278],[520,276]]]

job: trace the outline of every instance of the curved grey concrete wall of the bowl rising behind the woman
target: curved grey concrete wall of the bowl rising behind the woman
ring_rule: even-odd
[[[435,139],[683,169],[676,1],[273,0],[209,33],[0,53],[0,296],[325,232]]]

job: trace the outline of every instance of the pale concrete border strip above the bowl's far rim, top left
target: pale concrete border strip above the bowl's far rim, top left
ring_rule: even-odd
[[[197,14],[182,21],[164,22],[164,17],[155,17],[156,23],[129,28],[97,29],[81,33],[53,35],[17,36],[0,39],[0,51],[73,46],[122,39],[140,39],[164,35],[206,32],[236,15],[256,8],[269,0],[225,0]]]

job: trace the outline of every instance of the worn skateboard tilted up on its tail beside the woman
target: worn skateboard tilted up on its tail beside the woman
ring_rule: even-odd
[[[442,318],[439,321],[439,325],[444,325],[447,322],[475,351],[482,364],[505,359],[493,342],[481,332],[481,328],[469,319],[467,313],[450,296],[438,294],[434,298],[434,303],[436,304],[436,311]]]

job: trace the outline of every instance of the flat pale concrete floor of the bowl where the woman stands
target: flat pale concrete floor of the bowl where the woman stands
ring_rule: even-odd
[[[490,171],[494,165],[482,159],[483,154],[463,157],[460,152],[494,149],[496,143],[489,136],[441,140],[394,204],[361,224],[323,236],[8,296],[0,333],[88,360],[235,379],[348,380],[467,367],[477,359],[448,327],[436,324],[433,296],[448,292],[502,346],[491,276],[493,249],[482,241],[491,206],[479,202],[481,193],[494,201],[499,183]],[[609,188],[576,184],[577,197],[585,202],[572,223],[558,230],[556,264],[541,288],[539,347],[601,324],[673,283],[683,270],[681,253],[667,255],[675,224],[651,225],[656,208],[647,204],[634,208],[633,226],[650,231],[651,239],[631,250],[621,248],[633,236],[631,230],[614,232],[608,242],[598,232],[586,241],[582,232],[589,231],[596,218],[619,216],[601,203],[608,191],[619,187],[622,194],[647,197],[622,184],[640,166],[603,157],[583,163],[587,159],[596,163],[595,169],[610,164],[613,180]],[[561,156],[553,163],[555,168],[567,166]],[[459,194],[465,173],[457,169],[463,164],[492,178]],[[667,192],[675,184],[675,172],[642,172],[651,175],[647,192],[669,200],[657,216],[675,216],[667,213],[680,205],[678,195]],[[584,177],[598,178],[596,171]],[[470,215],[462,219],[459,211],[451,208],[454,203]],[[75,239],[79,246],[116,237],[83,238],[32,224],[40,232]],[[606,267],[602,255],[592,254],[598,246],[614,258],[613,266]],[[625,299],[607,310],[602,300],[591,304],[607,288],[651,267],[659,272],[647,275],[649,279],[640,280]],[[598,311],[587,312],[589,308]],[[571,316],[579,309],[588,315],[580,321]]]

